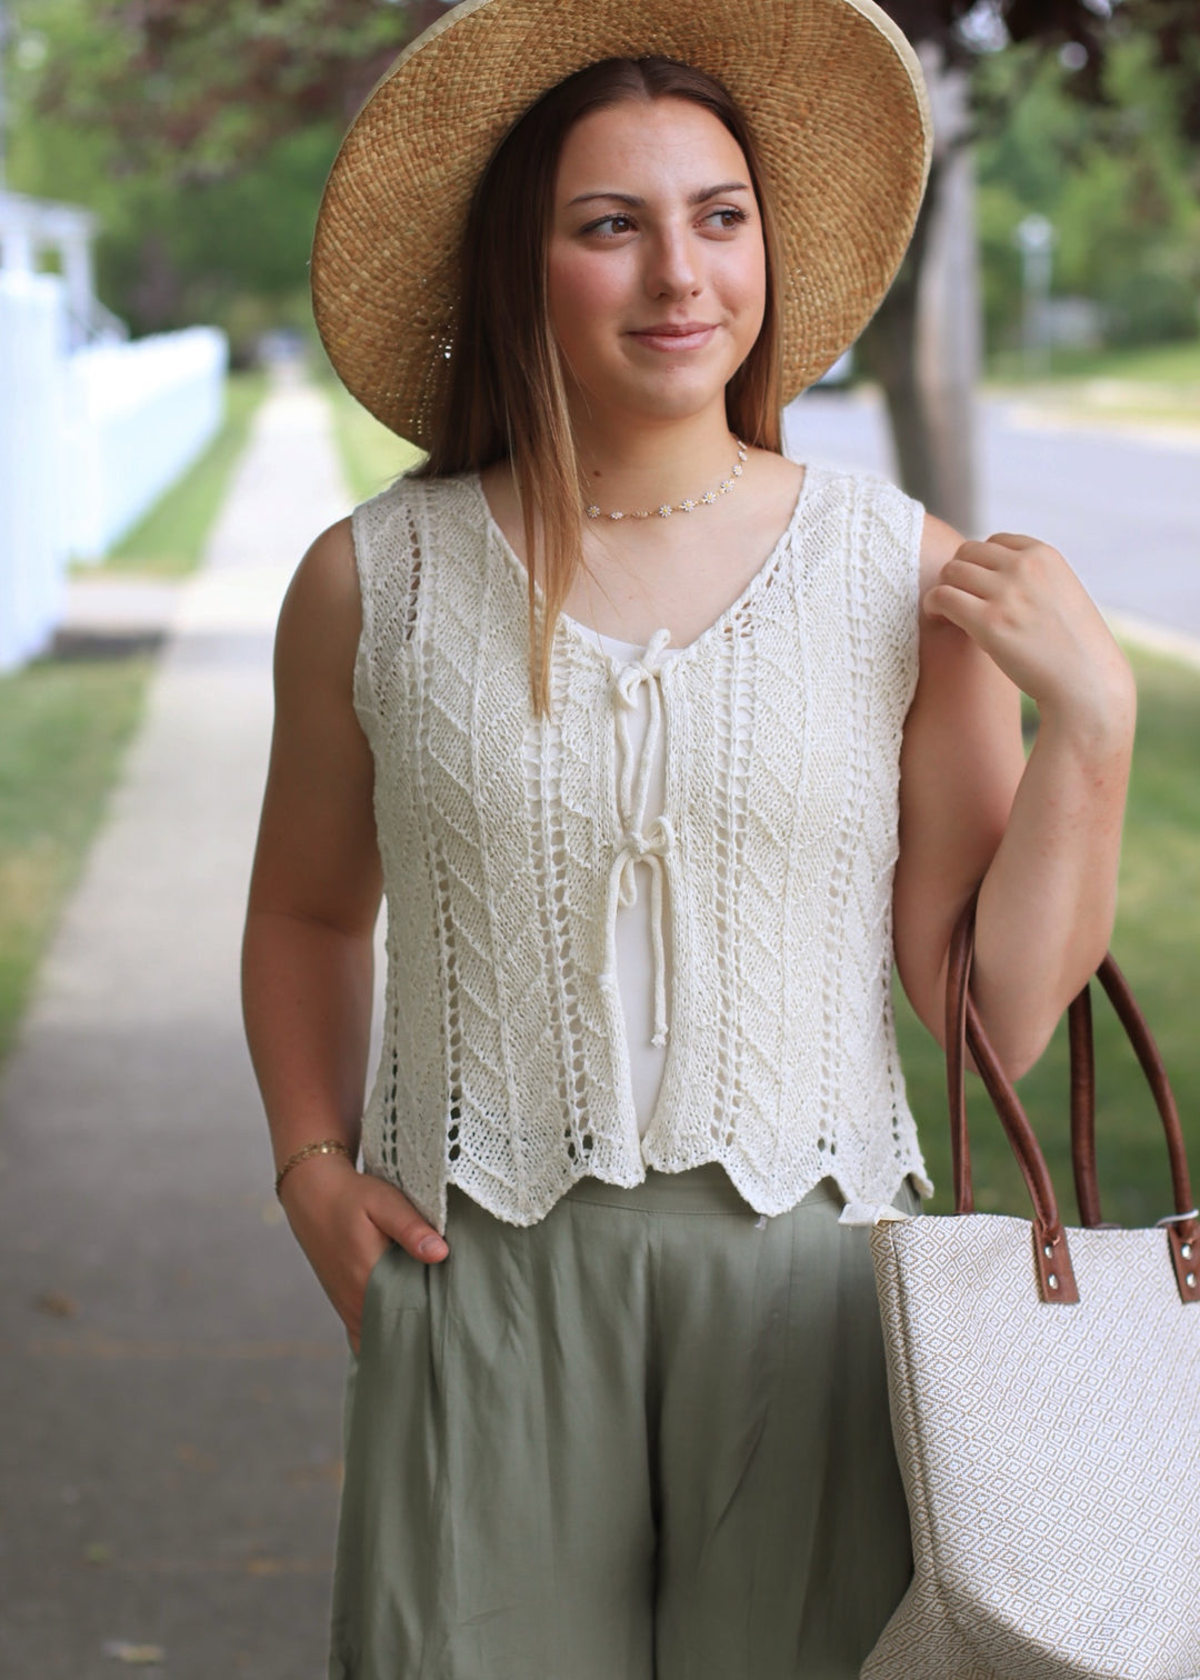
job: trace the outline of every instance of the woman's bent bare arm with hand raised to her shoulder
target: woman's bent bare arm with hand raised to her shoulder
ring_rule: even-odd
[[[1136,696],[1062,556],[1032,538],[963,543],[926,519],[921,677],[901,754],[896,959],[943,1038],[946,949],[980,890],[975,993],[1017,1077],[1113,932]],[[1039,707],[1025,763],[1020,694]]]

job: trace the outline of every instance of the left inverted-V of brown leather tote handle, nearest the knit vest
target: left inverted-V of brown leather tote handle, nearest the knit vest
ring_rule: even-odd
[[[973,892],[958,917],[946,966],[946,1090],[950,1149],[955,1163],[955,1213],[971,1213],[975,1208],[965,1079],[966,1047],[970,1047],[1034,1203],[1034,1265],[1039,1292],[1045,1302],[1071,1305],[1079,1300],[1079,1287],[1045,1156],[1020,1097],[988,1042],[970,991],[976,899],[978,892]]]

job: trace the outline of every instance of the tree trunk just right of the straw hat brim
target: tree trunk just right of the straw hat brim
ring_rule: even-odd
[[[899,479],[966,534],[976,533],[975,385],[982,363],[970,72],[921,44],[934,156],[913,245],[859,341],[887,405]]]

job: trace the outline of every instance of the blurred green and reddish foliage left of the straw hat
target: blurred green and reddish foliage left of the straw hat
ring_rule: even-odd
[[[373,0],[17,0],[8,185],[101,220],[97,291],[134,331],[213,321],[242,363],[311,331],[308,257],[343,116],[408,8]]]

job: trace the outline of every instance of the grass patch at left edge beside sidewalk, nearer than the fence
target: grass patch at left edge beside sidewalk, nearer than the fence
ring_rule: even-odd
[[[74,885],[151,660],[37,660],[0,677],[0,1058]]]

